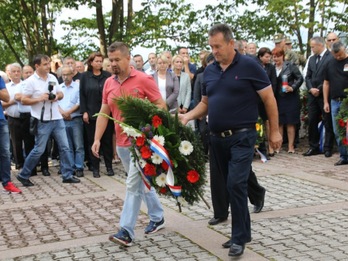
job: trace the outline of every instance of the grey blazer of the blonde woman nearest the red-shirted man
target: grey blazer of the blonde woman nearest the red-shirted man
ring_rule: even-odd
[[[157,86],[158,86],[158,74],[155,72],[151,74],[154,77]],[[177,96],[179,95],[179,79],[174,72],[168,72],[166,74],[166,103],[169,106],[169,109],[177,109]]]

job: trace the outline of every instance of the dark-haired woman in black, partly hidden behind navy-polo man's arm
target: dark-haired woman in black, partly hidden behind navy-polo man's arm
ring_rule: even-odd
[[[258,59],[259,59],[261,65],[263,66],[264,70],[267,72],[267,75],[269,77],[269,81],[271,81],[273,93],[275,93],[276,92],[276,85],[277,85],[277,75],[276,75],[276,66],[269,63],[269,61],[271,61],[271,54],[272,53],[271,53],[271,50],[269,48],[262,47],[259,49]],[[269,141],[269,120],[267,117],[266,109],[264,108],[264,103],[262,102],[261,99],[259,99],[259,102],[258,102],[258,111],[259,111],[260,117],[262,118],[262,120],[264,122],[267,140]],[[260,146],[261,146],[261,144],[260,144]],[[266,150],[266,148],[264,148],[264,150]],[[270,157],[274,156],[274,149],[271,148],[271,145],[268,145],[268,152],[269,152]]]

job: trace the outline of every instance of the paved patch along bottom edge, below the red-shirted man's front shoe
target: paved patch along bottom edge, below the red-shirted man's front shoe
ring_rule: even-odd
[[[191,242],[182,235],[169,232],[166,234],[136,237],[132,247],[122,247],[113,242],[102,242],[60,251],[43,252],[20,258],[8,258],[3,261],[49,261],[49,260],[219,260],[209,251]]]

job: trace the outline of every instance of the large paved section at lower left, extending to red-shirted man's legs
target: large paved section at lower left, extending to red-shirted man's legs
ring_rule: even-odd
[[[114,232],[122,205],[116,196],[101,196],[0,210],[0,251]],[[147,225],[141,213],[136,228]]]

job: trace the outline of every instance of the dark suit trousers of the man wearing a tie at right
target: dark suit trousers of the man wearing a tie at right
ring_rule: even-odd
[[[319,150],[320,134],[318,132],[319,116],[322,114],[325,126],[324,152],[331,151],[335,134],[333,134],[331,113],[324,112],[324,98],[322,95],[314,97],[308,94],[308,134],[309,145],[312,150]]]

